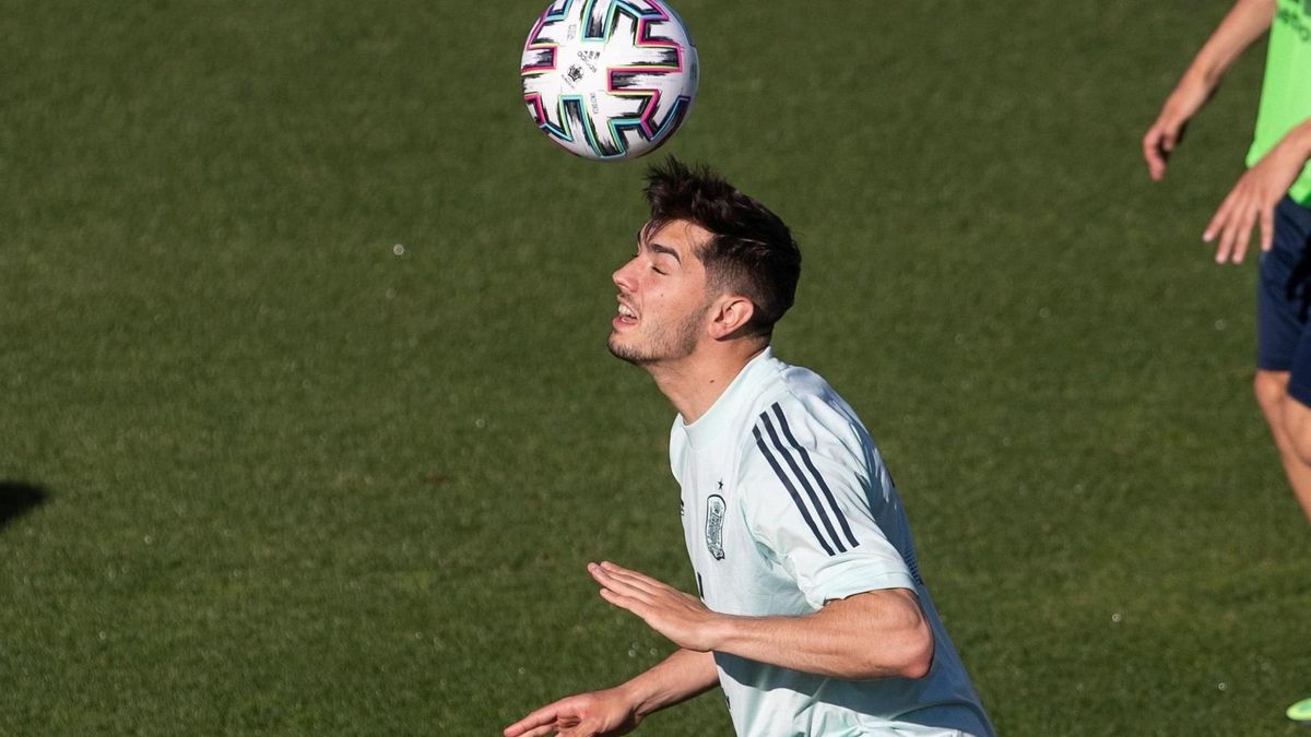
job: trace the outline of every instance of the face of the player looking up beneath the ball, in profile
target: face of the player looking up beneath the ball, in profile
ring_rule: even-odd
[[[637,254],[614,274],[619,311],[610,351],[650,365],[690,355],[701,336],[709,299],[696,250],[712,233],[688,220],[642,228]]]

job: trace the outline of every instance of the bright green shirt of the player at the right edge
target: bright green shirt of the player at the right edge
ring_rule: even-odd
[[[1280,0],[1270,24],[1261,108],[1247,165],[1260,161],[1307,118],[1311,118],[1311,0]],[[1311,163],[1293,182],[1289,197],[1311,205]]]

